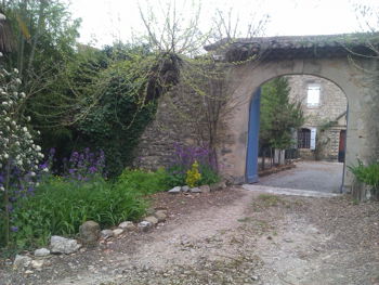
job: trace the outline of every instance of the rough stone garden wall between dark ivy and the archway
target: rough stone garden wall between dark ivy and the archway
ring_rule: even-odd
[[[223,143],[228,140],[225,129],[228,116],[234,115],[235,102],[225,106],[227,79],[219,75],[210,78],[196,74],[191,82],[185,77],[159,99],[156,118],[147,126],[134,151],[134,167],[156,169],[172,165],[174,145],[201,146],[208,151],[212,145],[212,150],[221,154],[228,152]],[[222,165],[223,161],[219,161],[219,166]]]

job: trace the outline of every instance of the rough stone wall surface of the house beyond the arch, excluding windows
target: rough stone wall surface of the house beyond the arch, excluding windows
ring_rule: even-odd
[[[338,160],[341,131],[347,129],[348,100],[334,82],[311,75],[287,76],[290,99],[301,102],[305,122],[302,128],[316,129],[315,150],[300,148],[306,159]],[[319,104],[309,106],[308,88],[319,87]]]

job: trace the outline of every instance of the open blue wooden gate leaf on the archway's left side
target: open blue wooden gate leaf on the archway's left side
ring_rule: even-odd
[[[257,90],[250,102],[249,132],[247,142],[246,180],[258,182],[258,147],[259,147],[259,114],[261,105],[261,88]]]

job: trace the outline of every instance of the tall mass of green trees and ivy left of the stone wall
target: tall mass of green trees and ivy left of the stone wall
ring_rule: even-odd
[[[154,118],[156,99],[169,86],[160,75],[174,56],[143,44],[77,44],[80,21],[63,0],[4,1],[2,10],[17,47],[5,65],[19,69],[27,93],[22,109],[41,131],[42,150],[56,147],[56,164],[73,150],[103,150],[108,176],[117,177]]]

